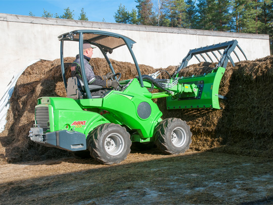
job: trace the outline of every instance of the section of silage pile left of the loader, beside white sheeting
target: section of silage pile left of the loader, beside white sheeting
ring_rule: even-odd
[[[65,59],[69,70],[75,58]],[[10,99],[7,124],[0,134],[0,142],[5,152],[0,157],[8,161],[48,158],[65,153],[62,150],[42,147],[28,139],[28,131],[34,123],[34,107],[42,96],[65,96],[62,83],[60,59],[41,60],[26,68],[19,77]],[[3,149],[2,149],[3,150]]]

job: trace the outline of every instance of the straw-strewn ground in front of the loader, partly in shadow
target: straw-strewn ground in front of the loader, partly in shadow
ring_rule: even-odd
[[[131,151],[0,164],[1,204],[273,204],[273,160],[213,151]]]

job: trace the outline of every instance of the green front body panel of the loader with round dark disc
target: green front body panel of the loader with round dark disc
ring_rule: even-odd
[[[154,128],[162,116],[162,112],[151,100],[151,97],[152,94],[146,88],[141,87],[138,79],[134,78],[123,92],[113,90],[104,98],[100,98],[102,99],[102,105],[99,106],[99,111],[107,111],[103,116],[110,122],[125,125],[130,130],[138,132],[140,138],[136,139],[136,141],[151,138],[154,134]],[[93,105],[87,105],[88,103],[86,103],[88,100],[78,100],[78,104],[81,108],[92,109]],[[138,114],[138,106],[143,102],[148,103],[151,107],[151,114],[145,119]]]

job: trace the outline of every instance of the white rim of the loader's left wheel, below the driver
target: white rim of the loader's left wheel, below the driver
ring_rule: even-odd
[[[104,142],[105,150],[113,156],[120,154],[124,149],[123,137],[118,133],[112,133]]]

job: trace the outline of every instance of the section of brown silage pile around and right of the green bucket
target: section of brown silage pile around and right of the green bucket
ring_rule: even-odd
[[[179,76],[202,74],[215,64],[191,65]],[[168,69],[168,68],[167,68]],[[173,69],[173,68],[171,68]],[[273,56],[229,63],[220,83],[221,110],[171,110],[158,100],[163,118],[186,120],[193,132],[192,148],[273,157]]]

